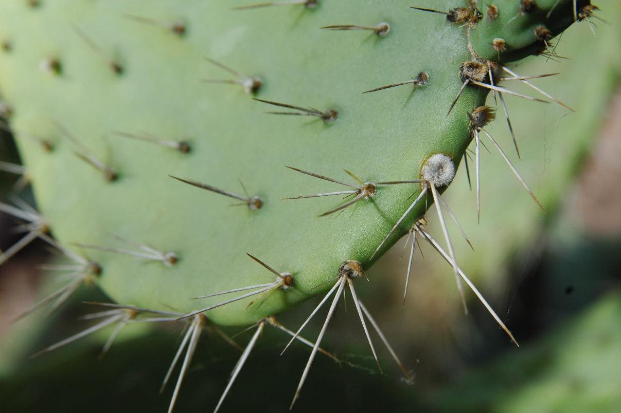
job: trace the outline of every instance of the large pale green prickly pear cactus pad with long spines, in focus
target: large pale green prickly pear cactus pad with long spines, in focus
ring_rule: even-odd
[[[4,210],[81,265],[76,287],[179,318],[242,326],[346,281],[355,294],[409,232],[483,301],[424,217],[453,215],[441,194],[471,143],[509,162],[514,143],[485,129],[490,91],[500,113],[566,107],[507,65],[554,58],[597,7],[376,3],[3,2],[0,96],[40,215]],[[248,298],[219,305],[223,291]]]

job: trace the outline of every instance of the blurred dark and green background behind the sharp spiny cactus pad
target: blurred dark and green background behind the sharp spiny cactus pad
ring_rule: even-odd
[[[361,283],[359,294],[414,380],[402,379],[376,339],[384,369],[379,374],[353,302],[341,301],[322,347],[342,362],[316,358],[295,411],[621,411],[621,7],[608,3],[599,5],[599,16],[610,23],[576,24],[555,40],[557,57],[515,65],[523,75],[560,73],[535,82],[576,113],[508,97],[521,160],[502,112],[489,127],[547,213],[502,158],[486,151],[481,223],[463,164],[446,192],[474,245],[471,250],[450,228],[458,262],[520,348],[471,293],[469,314],[463,313],[450,266],[423,243],[403,303],[409,254],[404,239],[368,272],[372,282]],[[495,105],[492,95],[487,102]],[[0,160],[19,162],[10,134],[0,134]],[[474,162],[469,165],[473,174]],[[3,197],[16,180],[0,172]],[[20,196],[35,205],[27,188]],[[434,224],[430,232],[440,234]],[[12,231],[17,225],[0,215],[0,250],[22,236]],[[50,259],[45,245],[34,242],[0,267],[0,411],[165,411],[174,383],[163,394],[158,389],[180,343],[178,326],[126,327],[103,360],[97,355],[114,327],[29,358],[90,325],[78,320],[91,311],[82,301],[108,301],[96,288],[83,288],[57,313],[39,311],[12,323],[54,287],[52,274],[38,269]],[[279,320],[296,329],[318,301]],[[304,336],[314,339],[319,329],[314,321]],[[245,345],[251,336],[235,339]],[[287,341],[266,327],[222,411],[288,409],[309,351],[294,345],[279,356]],[[213,409],[239,355],[203,332],[176,411]]]

